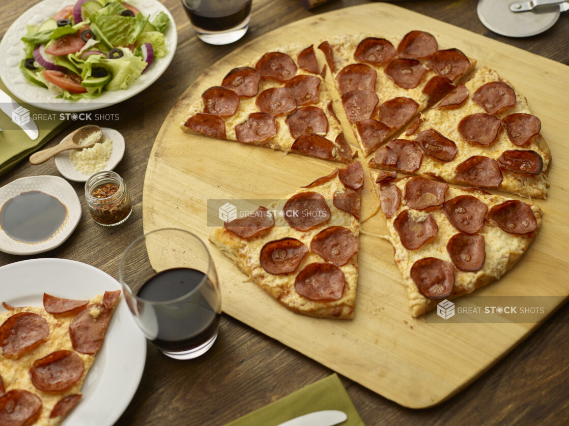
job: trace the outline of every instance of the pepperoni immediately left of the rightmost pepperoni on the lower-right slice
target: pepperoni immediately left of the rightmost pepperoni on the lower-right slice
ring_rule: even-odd
[[[441,210],[460,232],[474,234],[484,227],[488,206],[472,195],[458,195],[444,202]]]

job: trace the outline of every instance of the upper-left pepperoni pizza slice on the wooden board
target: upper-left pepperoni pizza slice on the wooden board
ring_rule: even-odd
[[[285,153],[351,162],[354,153],[331,103],[314,48],[294,45],[230,70],[219,86],[201,94],[180,127]]]

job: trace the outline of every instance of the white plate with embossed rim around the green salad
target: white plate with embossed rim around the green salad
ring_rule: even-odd
[[[168,15],[170,23],[164,33],[166,48],[168,49],[167,55],[153,61],[149,69],[135,82],[131,83],[127,89],[105,91],[97,99],[69,101],[56,98],[56,94],[50,90],[36,86],[27,80],[20,70],[20,62],[22,62],[22,59],[25,59],[24,44],[20,39],[27,34],[26,25],[39,25],[48,18],[52,18],[53,15],[71,3],[73,1],[69,0],[43,0],[39,2],[23,12],[11,24],[2,41],[0,41],[0,52],[2,52],[3,56],[2,61],[0,61],[0,78],[2,78],[8,90],[21,101],[50,111],[79,112],[97,110],[98,108],[105,108],[126,101],[126,99],[145,90],[166,71],[174,57],[176,45],[178,44],[176,23],[174,18],[172,18],[172,14],[158,0],[129,0],[128,3],[137,7],[142,14],[150,15],[150,20],[154,19],[162,11]]]

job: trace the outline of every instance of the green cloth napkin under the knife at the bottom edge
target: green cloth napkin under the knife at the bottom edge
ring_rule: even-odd
[[[365,426],[337,374],[284,396],[268,406],[250,412],[225,426],[275,426],[295,417],[320,410],[341,410],[348,420],[341,426]]]

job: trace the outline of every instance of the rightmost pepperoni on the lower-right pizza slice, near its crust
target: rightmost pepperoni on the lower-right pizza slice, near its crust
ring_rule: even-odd
[[[508,233],[522,235],[537,229],[531,207],[522,201],[509,200],[493,206],[488,212],[488,219]]]

